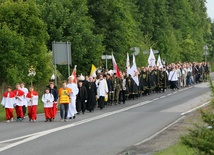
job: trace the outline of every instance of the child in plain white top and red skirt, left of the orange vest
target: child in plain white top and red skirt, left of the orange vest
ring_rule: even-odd
[[[53,101],[54,96],[50,93],[50,89],[47,87],[45,93],[42,95],[42,102],[44,104],[45,122],[52,121],[53,116]]]

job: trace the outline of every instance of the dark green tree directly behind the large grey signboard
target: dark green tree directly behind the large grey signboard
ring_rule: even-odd
[[[91,64],[98,65],[104,47],[102,35],[94,34],[94,21],[88,15],[87,0],[37,0],[47,24],[48,48],[53,41],[70,41],[72,64],[79,73],[88,74]],[[58,66],[67,77],[65,66]]]

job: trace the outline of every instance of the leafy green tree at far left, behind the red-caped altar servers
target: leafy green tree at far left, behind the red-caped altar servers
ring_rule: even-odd
[[[46,82],[52,72],[48,66],[45,23],[33,0],[0,3],[1,82],[29,82],[28,68],[36,68],[36,82]]]

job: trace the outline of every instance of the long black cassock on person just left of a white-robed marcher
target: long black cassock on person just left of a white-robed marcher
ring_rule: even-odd
[[[95,82],[88,82],[86,84],[87,89],[87,103],[86,103],[86,110],[88,111],[94,111],[94,108],[96,106],[96,95],[97,95],[97,88]]]

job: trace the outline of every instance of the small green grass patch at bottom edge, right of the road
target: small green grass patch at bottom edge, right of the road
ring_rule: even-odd
[[[196,152],[193,149],[186,147],[181,143],[177,143],[166,150],[154,153],[153,155],[194,155]]]

